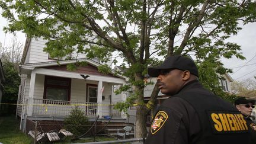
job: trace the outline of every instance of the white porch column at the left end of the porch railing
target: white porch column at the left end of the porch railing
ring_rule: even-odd
[[[27,116],[32,116],[32,112],[33,112],[33,97],[34,97],[35,81],[36,81],[36,73],[34,71],[32,71],[31,76],[30,76],[30,90],[28,93]]]

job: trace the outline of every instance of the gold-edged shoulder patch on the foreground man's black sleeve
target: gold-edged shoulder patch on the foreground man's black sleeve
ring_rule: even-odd
[[[152,135],[158,132],[159,129],[164,125],[165,121],[167,121],[168,115],[165,111],[158,111],[151,124],[151,133]]]

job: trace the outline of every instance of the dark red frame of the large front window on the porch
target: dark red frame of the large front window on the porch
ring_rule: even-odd
[[[51,80],[57,80],[57,81],[65,81],[68,82],[68,86],[64,86],[64,85],[49,85],[47,84],[48,79]],[[47,88],[65,88],[68,89],[68,100],[61,100],[61,101],[70,101],[71,100],[71,78],[63,78],[63,77],[56,77],[56,76],[44,76],[44,94],[43,94],[43,99],[44,100],[48,100],[46,97],[46,92],[47,92]]]

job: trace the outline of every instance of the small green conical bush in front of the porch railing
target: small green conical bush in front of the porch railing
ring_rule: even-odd
[[[87,125],[87,126],[82,126]],[[64,127],[69,132],[72,132],[74,136],[80,136],[87,132],[89,129],[88,118],[84,115],[84,111],[78,106],[72,108],[71,114],[65,118]]]

